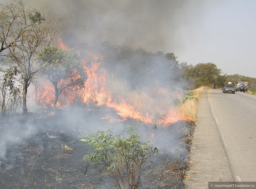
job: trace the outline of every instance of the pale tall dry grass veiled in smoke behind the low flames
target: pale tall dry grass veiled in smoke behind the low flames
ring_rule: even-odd
[[[111,102],[120,103],[124,99],[134,111],[152,121],[164,117],[168,110],[174,108],[173,99],[181,98],[181,90],[170,90],[157,85],[144,86],[143,88],[131,89],[122,77],[109,75],[106,79],[106,93],[110,93]]]

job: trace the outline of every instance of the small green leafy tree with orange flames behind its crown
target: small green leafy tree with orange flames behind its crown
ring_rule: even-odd
[[[54,86],[54,107],[56,107],[59,95],[64,90],[73,91],[85,87],[87,74],[79,53],[74,49],[50,46],[41,50],[38,58],[48,64],[47,67],[42,69],[42,73],[47,76],[47,79]]]

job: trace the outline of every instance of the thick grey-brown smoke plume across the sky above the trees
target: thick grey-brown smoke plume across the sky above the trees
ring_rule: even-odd
[[[95,45],[112,41],[147,51],[172,51],[182,48],[180,15],[187,1],[156,0],[30,0],[39,9],[52,9],[61,38],[70,46]],[[191,11],[191,10],[190,10]],[[182,23],[184,24],[184,23]],[[175,52],[174,52],[175,53]]]

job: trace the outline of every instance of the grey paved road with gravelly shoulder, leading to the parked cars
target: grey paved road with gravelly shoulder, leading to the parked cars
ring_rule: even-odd
[[[208,188],[208,181],[256,181],[256,96],[205,90],[197,117],[195,162],[186,188]]]

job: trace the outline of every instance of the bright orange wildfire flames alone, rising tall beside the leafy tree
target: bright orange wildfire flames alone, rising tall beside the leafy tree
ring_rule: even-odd
[[[62,43],[61,39],[59,39],[59,46],[70,49],[67,45]],[[75,102],[74,99],[79,98],[82,103],[86,104],[87,106],[104,105],[115,109],[117,112],[116,114],[122,118],[118,121],[131,118],[144,122],[145,124],[157,123],[159,125],[170,125],[180,120],[184,120],[182,115],[177,113],[174,108],[169,108],[169,110],[160,110],[159,107],[156,107],[156,104],[159,103],[157,100],[155,100],[156,102],[154,104],[150,104],[149,101],[152,101],[153,98],[149,98],[145,93],[137,92],[137,100],[131,98],[133,100],[130,100],[130,103],[127,103],[127,100],[122,96],[118,99],[114,99],[113,96],[115,95],[112,95],[111,91],[106,87],[106,78],[108,74],[107,71],[101,66],[100,60],[102,58],[104,58],[104,56],[98,55],[97,53],[90,53],[87,58],[84,58],[83,64],[88,76],[85,82],[85,87],[82,90],[77,90],[76,92],[67,91],[65,95],[59,97],[59,103],[57,104],[58,106],[68,106],[69,103]],[[44,90],[45,92],[41,94],[40,103],[51,102],[52,104],[54,100],[53,87],[51,85],[45,85]],[[164,90],[159,90],[159,93],[162,94],[164,93],[163,91]],[[134,93],[135,92],[131,92],[130,95],[134,95]],[[166,94],[169,95],[170,93]],[[37,95],[39,95],[38,92]],[[166,105],[166,102],[164,102],[164,104]],[[155,114],[161,114],[162,117],[157,117]],[[107,115],[101,119],[109,119],[111,122],[117,121],[116,119],[112,119]]]

